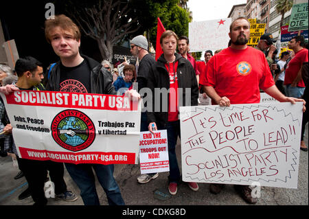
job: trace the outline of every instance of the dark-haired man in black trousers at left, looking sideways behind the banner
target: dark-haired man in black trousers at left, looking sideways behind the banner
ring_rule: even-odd
[[[31,56],[19,58],[15,64],[15,71],[18,76],[16,83],[13,83],[19,90],[44,90],[41,80],[43,76],[42,63]],[[12,132],[12,126],[10,131]],[[14,143],[10,152],[17,154]],[[54,161],[36,161],[31,159],[21,159],[16,156],[16,159],[25,174],[25,178],[29,185],[30,194],[34,200],[34,205],[46,205],[47,198],[45,198],[44,185],[49,170],[49,176],[55,185],[56,198],[67,201],[75,201],[78,199],[76,194],[67,191],[67,185],[63,179],[64,167],[63,163]]]

